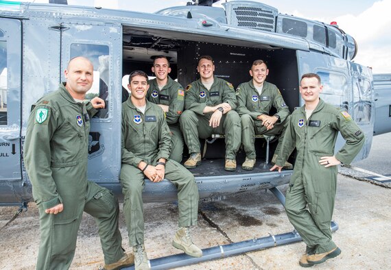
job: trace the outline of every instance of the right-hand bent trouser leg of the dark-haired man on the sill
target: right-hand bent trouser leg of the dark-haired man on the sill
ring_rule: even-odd
[[[168,160],[165,165],[165,179],[178,189],[179,227],[196,225],[199,195],[193,174],[178,162]]]

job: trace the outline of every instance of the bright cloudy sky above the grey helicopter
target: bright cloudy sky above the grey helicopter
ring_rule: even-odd
[[[188,1],[68,0],[68,4],[156,12],[171,6],[186,5]],[[213,6],[222,7],[225,1],[218,1]],[[35,2],[47,3],[48,0],[35,0]],[[336,21],[344,32],[355,38],[358,44],[355,62],[372,67],[373,73],[391,73],[391,0],[262,0],[257,2],[271,5],[283,14],[324,23]]]

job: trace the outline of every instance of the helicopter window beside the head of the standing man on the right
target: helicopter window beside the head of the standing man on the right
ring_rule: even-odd
[[[348,111],[348,81],[341,74],[318,72],[322,80],[323,90],[320,97],[327,103],[332,104],[337,108]]]

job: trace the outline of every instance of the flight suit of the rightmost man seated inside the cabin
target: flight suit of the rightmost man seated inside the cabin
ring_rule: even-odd
[[[255,134],[280,136],[279,145],[277,145],[275,151],[275,153],[279,153],[285,125],[289,121],[289,109],[279,88],[269,82],[263,82],[262,93],[259,96],[251,79],[250,82],[245,82],[237,87],[236,98],[237,113],[241,118],[241,143],[247,158],[255,159]],[[272,107],[276,108],[277,112],[274,115],[280,116],[280,119],[271,130],[268,130],[262,125],[262,121],[257,119],[257,116],[261,114],[269,115]]]

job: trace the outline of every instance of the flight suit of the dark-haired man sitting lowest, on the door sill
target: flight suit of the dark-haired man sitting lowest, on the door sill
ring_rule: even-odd
[[[178,189],[179,227],[197,223],[198,186],[194,176],[185,167],[168,159],[170,146],[169,127],[160,107],[147,101],[143,114],[133,105],[131,99],[122,103],[121,185],[123,214],[131,246],[144,243],[141,193],[145,185],[145,175],[137,167],[141,161],[156,166],[160,158],[167,159],[165,179]]]

